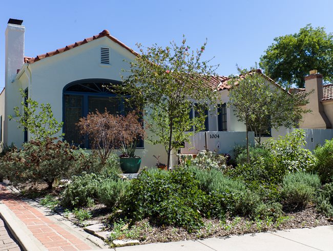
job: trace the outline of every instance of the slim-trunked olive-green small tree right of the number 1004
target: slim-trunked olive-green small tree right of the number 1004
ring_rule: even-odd
[[[300,99],[272,85],[261,71],[238,70],[240,76],[232,76],[228,81],[232,86],[228,107],[233,108],[238,121],[245,123],[249,163],[249,129],[255,132],[256,141],[260,144],[261,135],[267,128],[292,128],[302,119],[302,114],[309,111],[300,107],[307,103],[306,98]]]

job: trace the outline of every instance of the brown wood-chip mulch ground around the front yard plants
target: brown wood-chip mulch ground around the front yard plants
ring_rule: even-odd
[[[21,186],[20,189],[27,191],[24,195],[40,196],[40,190],[45,189],[44,184],[34,184]],[[61,191],[61,187],[52,191],[52,195],[57,196]],[[42,195],[46,192],[42,192]],[[39,197],[38,196],[38,197]],[[95,204],[88,208],[92,213],[91,220],[97,220],[112,226],[109,221],[111,215],[107,208],[102,204]],[[71,219],[75,222],[75,219]],[[333,224],[331,219],[327,219],[324,215],[317,212],[316,206],[310,204],[302,210],[287,212],[284,217],[278,222],[267,222],[260,220],[252,220],[245,217],[228,218],[225,221],[215,219],[204,219],[204,227],[199,231],[189,233],[183,228],[174,226],[156,226],[150,224],[147,227],[148,220],[137,222],[136,226],[140,228],[140,236],[138,240],[141,244],[154,242],[169,242],[182,240],[195,240],[211,237],[226,237],[230,235],[243,235],[250,233],[277,231],[291,228],[316,227],[322,225]],[[76,221],[78,225],[80,223]],[[112,228],[109,229],[112,231]]]

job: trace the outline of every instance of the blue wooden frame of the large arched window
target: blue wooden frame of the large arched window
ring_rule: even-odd
[[[95,92],[77,92],[77,91],[67,91],[67,89],[71,86],[79,85],[82,83],[89,83],[89,82],[98,82],[98,83],[115,83],[115,84],[121,84],[121,81],[113,80],[113,79],[106,79],[106,78],[87,78],[87,79],[80,79],[73,82],[68,83],[63,88],[63,133],[65,133],[65,95],[76,95],[76,96],[82,96],[82,117],[86,117],[89,113],[88,111],[88,99],[89,97],[116,97],[117,94],[112,93],[95,93]],[[124,115],[124,109],[123,109],[123,102],[121,103],[121,110],[122,115]],[[66,135],[65,135],[66,137]],[[65,140],[65,139],[63,139]],[[85,140],[83,147],[86,149],[89,148],[89,142],[88,140]],[[142,147],[137,147],[137,149],[144,149],[144,140],[142,141]]]

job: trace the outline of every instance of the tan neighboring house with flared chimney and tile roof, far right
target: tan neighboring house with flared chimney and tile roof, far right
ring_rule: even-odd
[[[304,109],[311,110],[303,116],[300,128],[331,129],[333,125],[333,84],[323,85],[323,75],[316,70],[305,77],[305,88],[290,88],[289,92],[304,98],[309,93],[309,103]]]

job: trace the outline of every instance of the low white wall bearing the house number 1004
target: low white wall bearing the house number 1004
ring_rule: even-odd
[[[254,132],[248,132],[248,140],[255,145]],[[246,132],[198,132],[191,137],[190,143],[180,150],[183,154],[197,154],[208,149],[217,153],[228,153],[233,156],[236,145],[246,144]]]

